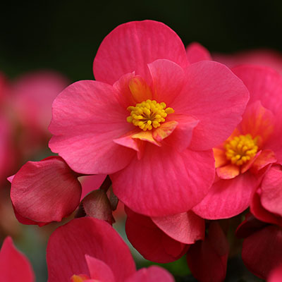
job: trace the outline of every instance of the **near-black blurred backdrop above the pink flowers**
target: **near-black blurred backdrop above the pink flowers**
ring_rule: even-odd
[[[6,1],[0,8],[0,70],[8,77],[51,68],[92,79],[102,39],[121,23],[153,19],[185,44],[210,51],[257,47],[282,51],[282,1]]]

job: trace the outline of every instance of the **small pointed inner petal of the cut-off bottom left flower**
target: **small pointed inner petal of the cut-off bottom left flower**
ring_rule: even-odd
[[[105,264],[102,260],[85,255],[87,266],[90,272],[90,278],[96,281],[115,282],[113,271],[109,265]]]

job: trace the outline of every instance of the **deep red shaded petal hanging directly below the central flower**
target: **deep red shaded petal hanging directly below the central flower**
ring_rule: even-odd
[[[135,214],[126,208],[125,231],[128,240],[140,254],[152,262],[174,262],[182,257],[188,245],[169,237],[148,216]]]

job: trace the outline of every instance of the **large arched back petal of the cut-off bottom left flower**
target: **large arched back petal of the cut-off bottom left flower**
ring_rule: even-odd
[[[69,281],[73,274],[90,276],[85,255],[101,260],[116,282],[135,272],[128,246],[108,223],[90,217],[73,219],[54,231],[47,246],[49,282]]]

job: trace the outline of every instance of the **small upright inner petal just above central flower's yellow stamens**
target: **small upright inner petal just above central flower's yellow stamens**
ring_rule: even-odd
[[[183,68],[168,60],[154,61],[149,63],[148,68],[152,75],[154,99],[159,103],[164,102],[166,106],[170,107],[171,102],[184,86]]]

